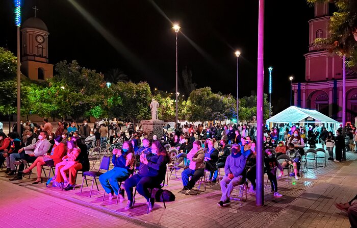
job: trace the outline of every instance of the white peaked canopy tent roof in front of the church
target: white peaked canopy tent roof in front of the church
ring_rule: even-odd
[[[305,124],[314,124],[318,123],[320,125],[324,125],[326,130],[328,131],[336,131],[338,128],[339,122],[331,119],[330,117],[316,111],[316,110],[309,110],[309,109],[302,109],[295,106],[290,106],[286,110],[279,112],[275,116],[267,119],[267,125],[279,125],[280,123],[290,125],[298,124],[298,125],[305,125]]]

